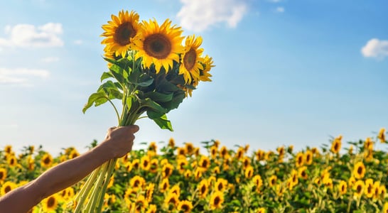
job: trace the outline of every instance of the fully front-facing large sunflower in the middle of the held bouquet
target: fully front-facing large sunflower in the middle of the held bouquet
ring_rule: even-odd
[[[143,21],[141,33],[133,40],[134,49],[138,50],[135,58],[142,58],[145,67],[155,65],[156,73],[161,67],[168,72],[168,67],[173,67],[173,61],[179,62],[179,54],[183,52],[180,27],[171,26],[171,21],[166,19],[161,26],[156,20]]]

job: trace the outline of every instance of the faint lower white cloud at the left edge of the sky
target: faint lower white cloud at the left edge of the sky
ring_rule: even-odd
[[[0,84],[31,84],[33,78],[46,79],[49,75],[47,70],[0,67]]]

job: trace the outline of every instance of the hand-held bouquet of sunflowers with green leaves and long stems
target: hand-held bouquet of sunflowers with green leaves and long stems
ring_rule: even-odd
[[[212,58],[202,55],[202,38],[184,38],[182,29],[168,19],[161,25],[155,19],[140,22],[134,11],[119,11],[102,28],[109,70],[102,73],[102,84],[82,111],[109,102],[119,126],[148,117],[161,129],[173,131],[166,114],[191,97],[199,82],[211,81],[209,71],[214,65]],[[121,112],[114,99],[121,100]],[[75,212],[101,212],[115,163],[110,160],[87,178],[75,198]]]

